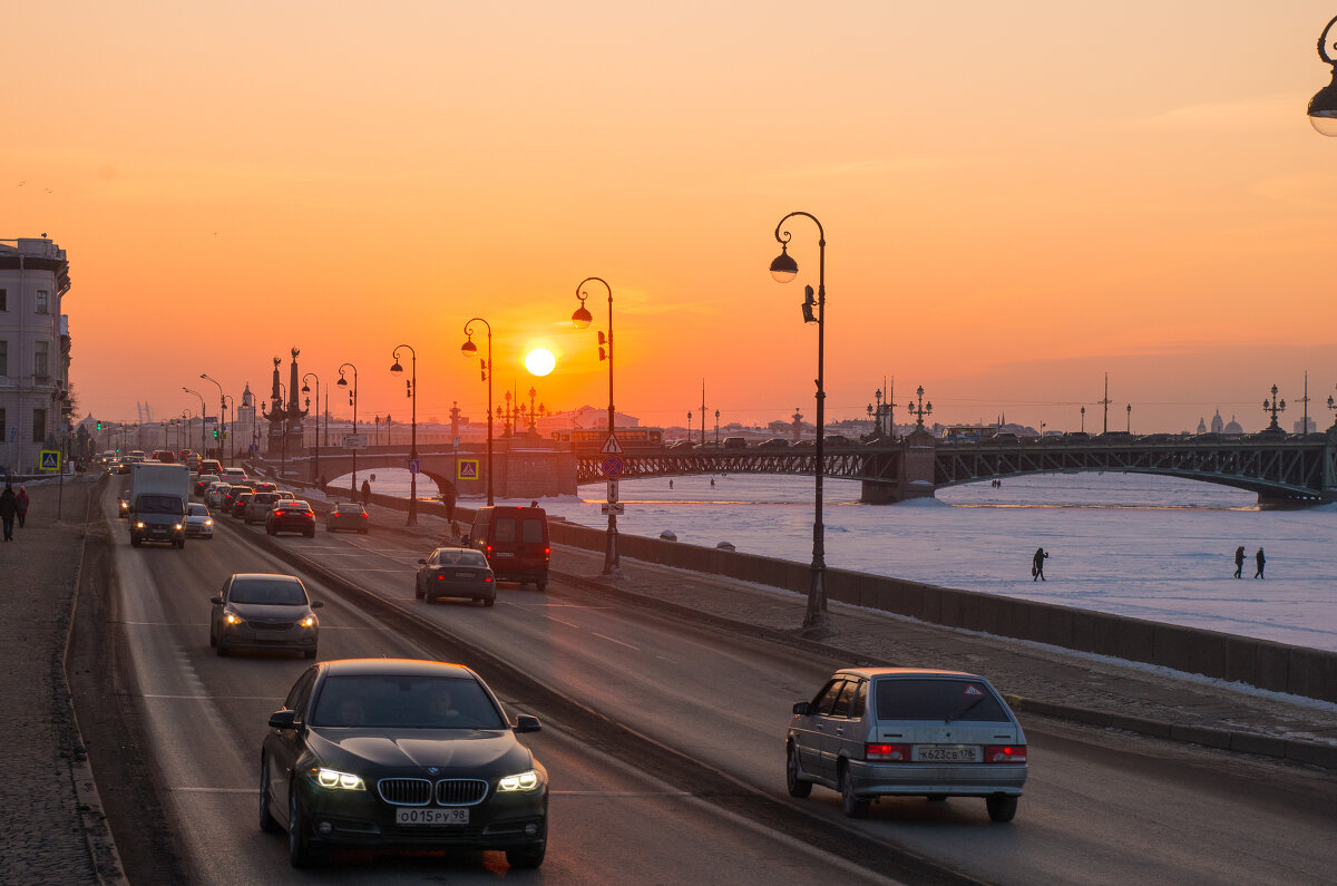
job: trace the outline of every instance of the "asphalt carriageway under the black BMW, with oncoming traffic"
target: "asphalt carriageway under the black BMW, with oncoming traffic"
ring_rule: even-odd
[[[848,882],[881,881],[832,853],[666,784],[552,721],[543,732],[525,736],[552,776],[548,855],[540,871],[509,871],[501,853],[341,853],[336,865],[293,871],[282,836],[261,834],[257,826],[258,756],[269,713],[281,707],[308,662],[269,653],[234,652],[221,658],[209,646],[207,626],[209,597],[229,574],[291,570],[233,531],[229,518],[222,518],[225,526],[215,539],[193,539],[179,551],[132,549],[124,522],[115,518],[115,487],[111,484],[103,497],[115,525],[119,580],[119,624],[112,629],[124,632],[128,641],[124,684],[142,719],[167,819],[135,826],[170,828],[191,882],[492,882],[513,875],[582,883],[782,882],[833,875]],[[353,538],[341,535],[334,547],[345,547]],[[314,541],[324,545],[328,537],[321,533]],[[368,569],[384,567],[380,555],[349,550],[378,563]],[[394,571],[382,573],[378,584],[402,584],[394,578]],[[320,582],[310,581],[309,588],[326,602],[321,609],[322,658],[435,657]],[[445,617],[448,609],[440,610]],[[523,610],[513,605],[487,610],[493,612],[516,618]],[[529,614],[517,621],[535,618]],[[480,621],[476,630],[487,626]],[[515,699],[503,700],[512,715],[544,713]]]

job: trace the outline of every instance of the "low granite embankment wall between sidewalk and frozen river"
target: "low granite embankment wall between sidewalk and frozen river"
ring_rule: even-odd
[[[377,505],[386,507],[400,510],[406,507],[402,499],[381,495],[374,499]],[[443,513],[441,506],[436,503],[421,507],[424,513]],[[461,526],[467,527],[472,517],[472,509],[456,509],[455,518]],[[607,534],[602,529],[552,521],[551,537],[556,545],[603,550]],[[808,592],[808,563],[626,534],[618,537],[618,550],[623,557],[651,563],[713,573],[798,593]],[[1243,683],[1259,689],[1337,701],[1334,652],[972,590],[937,588],[844,569],[826,570],[826,596],[840,602],[909,616],[935,625],[1032,640],[1064,649]]]

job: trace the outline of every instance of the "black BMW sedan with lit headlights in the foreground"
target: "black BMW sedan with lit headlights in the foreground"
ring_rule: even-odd
[[[469,668],[405,658],[314,665],[270,715],[259,826],[287,830],[293,867],[325,850],[504,850],[537,867],[548,772]]]

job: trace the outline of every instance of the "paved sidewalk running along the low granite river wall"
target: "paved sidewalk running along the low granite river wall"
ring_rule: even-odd
[[[473,507],[476,502],[461,502]],[[424,547],[449,535],[440,506],[418,527],[373,503],[374,526],[417,534]],[[461,521],[467,525],[467,521]],[[1290,759],[1337,771],[1337,704],[1056,646],[941,628],[885,612],[830,604],[838,634],[798,638],[808,589],[781,590],[622,558],[622,578],[600,575],[602,550],[554,546],[554,575],[588,592],[698,622],[762,636],[841,665],[909,665],[983,673],[1023,715],[1127,729],[1205,747]]]

